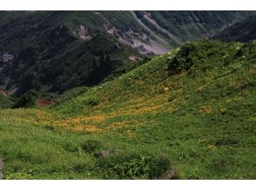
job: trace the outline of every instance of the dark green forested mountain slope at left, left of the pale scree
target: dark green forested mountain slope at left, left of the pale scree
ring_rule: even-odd
[[[129,56],[139,56],[103,32],[90,36],[82,25],[71,30],[70,23],[76,21],[65,20],[71,13],[27,13],[1,25],[0,72],[5,89],[22,95],[29,89],[56,92],[96,84],[112,70],[132,63]]]

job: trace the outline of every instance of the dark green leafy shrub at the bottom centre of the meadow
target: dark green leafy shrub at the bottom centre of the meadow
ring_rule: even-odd
[[[159,179],[170,161],[163,156],[123,153],[99,159],[98,167],[105,179]]]

